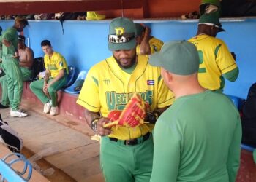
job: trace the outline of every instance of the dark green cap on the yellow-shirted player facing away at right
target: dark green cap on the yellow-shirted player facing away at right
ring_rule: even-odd
[[[205,25],[215,25],[216,27],[219,28],[220,31],[225,31],[222,28],[222,24],[219,22],[219,17],[216,13],[211,12],[211,13],[206,13],[200,16],[198,24],[205,24]]]

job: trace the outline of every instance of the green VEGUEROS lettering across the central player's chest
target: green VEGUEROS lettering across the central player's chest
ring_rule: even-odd
[[[108,105],[108,110],[124,110],[128,101],[132,98],[134,92],[131,93],[116,93],[116,92],[106,92],[106,101]],[[146,92],[140,92],[140,97],[151,105],[153,98],[153,91],[147,90]]]

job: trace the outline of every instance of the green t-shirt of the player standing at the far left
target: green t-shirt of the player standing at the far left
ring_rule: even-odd
[[[2,45],[2,56],[5,55],[14,55],[15,51],[18,50],[18,31],[15,28],[8,28],[4,33],[1,35],[1,39],[6,39],[10,41],[10,47]]]

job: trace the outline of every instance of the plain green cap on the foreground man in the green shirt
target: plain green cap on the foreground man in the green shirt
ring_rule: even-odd
[[[197,47],[188,41],[169,41],[149,58],[152,66],[160,66],[178,75],[195,74],[199,68]]]

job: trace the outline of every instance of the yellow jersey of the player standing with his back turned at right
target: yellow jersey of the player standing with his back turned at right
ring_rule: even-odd
[[[197,47],[200,67],[198,79],[200,84],[209,90],[219,90],[224,87],[222,74],[237,68],[227,45],[221,39],[208,35],[195,36],[189,41]]]

